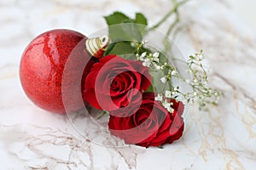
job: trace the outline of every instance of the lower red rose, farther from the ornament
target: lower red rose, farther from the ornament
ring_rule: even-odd
[[[110,111],[108,127],[110,132],[126,144],[144,147],[171,144],[183,134],[182,102],[172,99],[173,113],[154,100],[154,93],[144,93],[141,105],[133,104],[125,111]],[[139,109],[134,109],[139,108]]]

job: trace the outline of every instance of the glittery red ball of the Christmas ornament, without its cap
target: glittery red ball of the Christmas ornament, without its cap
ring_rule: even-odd
[[[96,62],[86,40],[77,31],[52,30],[30,42],[20,61],[20,82],[35,105],[61,114],[84,107],[84,80]]]

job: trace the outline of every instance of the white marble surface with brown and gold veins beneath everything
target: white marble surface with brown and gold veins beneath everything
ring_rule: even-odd
[[[33,37],[53,28],[89,36],[106,27],[102,16],[114,10],[143,12],[153,25],[172,8],[170,2],[1,0],[0,168],[255,169],[256,35],[224,0],[183,6],[182,31],[175,37],[184,55],[204,49],[212,86],[224,91],[224,99],[209,111],[193,107],[182,139],[163,150],[96,144],[66,116],[42,111],[23,93],[20,56]]]

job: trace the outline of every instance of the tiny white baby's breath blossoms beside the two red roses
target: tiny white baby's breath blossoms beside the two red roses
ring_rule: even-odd
[[[141,48],[143,48],[143,45],[137,48],[137,59],[142,61],[144,66],[153,69],[153,71],[165,70],[163,71],[165,75],[158,77],[160,78],[160,82],[164,84],[164,88],[161,89],[161,91],[157,90],[158,96],[155,97],[155,100],[160,101],[167,111],[173,111],[173,104],[169,101],[170,99],[177,99],[177,97],[181,97],[184,104],[194,104],[198,102],[200,110],[206,110],[208,104],[218,104],[218,99],[222,93],[217,89],[211,88],[208,84],[207,71],[202,64],[203,59],[205,59],[202,50],[199,53],[190,55],[186,62],[192,77],[192,80],[189,80],[181,77],[177,70],[168,63],[162,64],[160,62],[160,53],[141,52]],[[179,90],[179,87],[168,87],[167,84],[172,84],[171,81],[173,77],[186,82],[192,88],[192,91],[183,94],[183,92]],[[170,89],[166,89],[166,87]]]

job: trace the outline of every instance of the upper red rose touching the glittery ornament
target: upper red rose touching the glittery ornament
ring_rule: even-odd
[[[137,102],[150,86],[148,67],[141,61],[108,55],[94,64],[85,80],[84,98],[99,110],[114,111]]]

